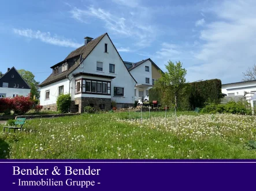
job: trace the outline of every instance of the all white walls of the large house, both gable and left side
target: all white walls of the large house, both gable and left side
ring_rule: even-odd
[[[107,44],[107,52],[105,51]],[[103,71],[97,71],[97,62],[103,63]],[[109,64],[114,64],[114,73],[109,72]],[[73,77],[79,72],[86,73]],[[87,75],[88,74],[88,75]],[[91,75],[90,75],[91,74]],[[102,76],[92,76],[92,75]],[[113,79],[105,78],[104,76],[115,77]],[[76,94],[76,80],[80,78],[101,80],[111,82],[111,96],[101,94]],[[70,80],[69,80],[70,79]],[[129,74],[123,60],[118,55],[109,37],[105,35],[87,58],[77,67],[68,78],[62,79],[49,85],[43,86],[40,89],[40,105],[56,104],[58,97],[58,87],[64,86],[64,94],[70,93],[71,100],[74,101],[78,97],[94,97],[94,98],[111,98],[117,104],[133,104],[134,103],[134,87],[136,82]],[[114,96],[114,87],[123,87],[124,96]],[[49,98],[46,98],[46,91],[50,90]]]

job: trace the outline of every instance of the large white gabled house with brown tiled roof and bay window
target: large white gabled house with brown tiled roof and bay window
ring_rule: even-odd
[[[52,66],[52,74],[40,87],[40,105],[57,110],[57,97],[71,94],[71,112],[84,112],[84,106],[110,109],[134,105],[135,79],[118,54],[107,33],[72,51],[63,61]]]

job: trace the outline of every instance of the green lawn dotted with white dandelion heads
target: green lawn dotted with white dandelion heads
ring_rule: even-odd
[[[0,158],[256,158],[256,118],[195,112],[81,114],[27,120],[23,132],[0,132]],[[2,127],[3,125],[0,125]],[[256,144],[255,144],[256,148]]]

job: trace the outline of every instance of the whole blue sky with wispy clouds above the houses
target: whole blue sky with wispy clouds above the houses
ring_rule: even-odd
[[[238,82],[256,60],[256,1],[80,0],[1,1],[0,71],[34,72],[84,43],[109,33],[125,61],[151,58],[162,70],[181,61],[187,81]]]

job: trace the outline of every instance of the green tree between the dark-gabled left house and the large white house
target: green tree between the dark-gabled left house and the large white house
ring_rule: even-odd
[[[38,99],[40,96],[40,91],[38,88],[39,82],[35,81],[35,75],[31,71],[27,71],[27,70],[23,70],[23,69],[18,70],[18,73],[21,75],[21,77],[23,77],[23,79],[31,87],[31,91],[30,91],[31,98],[33,98],[35,96],[36,99]]]

